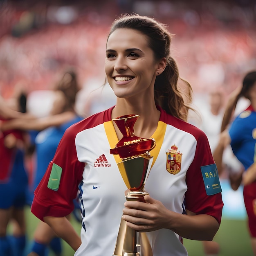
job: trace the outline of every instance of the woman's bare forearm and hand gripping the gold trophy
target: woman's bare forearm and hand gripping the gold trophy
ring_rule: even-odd
[[[125,207],[122,218],[128,227],[137,231],[167,228],[187,239],[211,241],[220,226],[214,217],[207,214],[195,215],[187,211],[186,215],[170,211],[149,195],[145,196],[145,202],[127,201]]]

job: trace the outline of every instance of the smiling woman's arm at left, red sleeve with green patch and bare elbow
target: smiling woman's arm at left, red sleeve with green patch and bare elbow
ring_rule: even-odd
[[[76,155],[77,131],[74,127],[67,128],[53,160],[34,191],[31,205],[31,212],[52,227],[74,250],[80,246],[81,240],[65,216],[74,209],[73,199],[77,196],[85,166],[85,163],[78,161]],[[52,180],[57,183],[50,182]]]

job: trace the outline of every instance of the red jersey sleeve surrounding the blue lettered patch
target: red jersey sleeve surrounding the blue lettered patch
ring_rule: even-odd
[[[220,223],[223,207],[221,193],[207,195],[201,172],[202,166],[214,164],[211,149],[204,133],[200,133],[197,141],[195,157],[186,174],[188,189],[185,195],[185,207],[197,214],[211,215]]]

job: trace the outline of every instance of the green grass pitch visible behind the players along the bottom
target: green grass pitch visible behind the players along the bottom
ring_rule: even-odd
[[[36,229],[38,219],[30,212],[29,207],[26,208],[26,216],[27,237],[30,243],[34,230]],[[79,233],[80,224],[74,219],[72,219],[72,224]],[[221,252],[219,256],[253,256],[246,220],[231,220],[222,218],[220,229],[214,240],[220,244]],[[189,252],[189,256],[204,256],[202,243],[200,241],[184,239],[184,245]],[[63,242],[63,248],[63,256],[74,255],[74,251],[69,245],[67,245],[67,243]],[[29,244],[27,252],[29,252],[28,249]],[[53,256],[53,254],[50,252],[49,256]]]

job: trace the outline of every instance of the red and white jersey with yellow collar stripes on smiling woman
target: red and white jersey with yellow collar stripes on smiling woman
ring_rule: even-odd
[[[221,189],[206,135],[195,126],[159,110],[161,116],[152,135],[156,147],[150,151],[153,165],[146,191],[171,211],[183,213],[185,205],[189,211],[209,214],[220,222]],[[112,108],[67,129],[35,191],[31,207],[32,213],[41,220],[44,216],[67,216],[80,188],[82,244],[76,256],[112,255],[115,249],[127,187],[117,166],[121,159],[110,154],[110,148],[118,142],[111,112]],[[166,155],[173,153],[173,145],[178,148],[181,160],[173,165],[179,166],[176,171],[167,167],[171,162]],[[173,231],[160,229],[147,235],[154,256],[187,255],[181,238]]]

